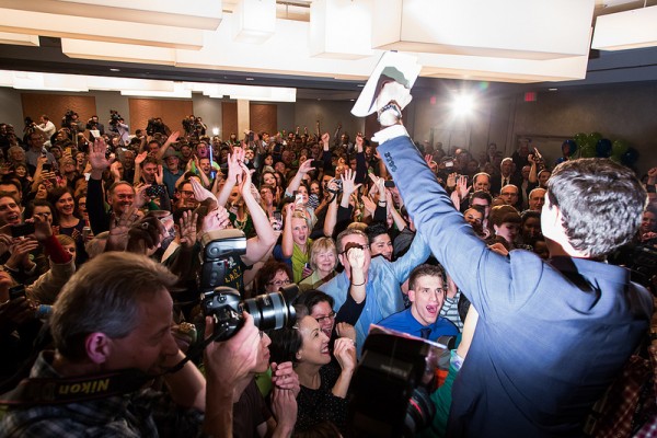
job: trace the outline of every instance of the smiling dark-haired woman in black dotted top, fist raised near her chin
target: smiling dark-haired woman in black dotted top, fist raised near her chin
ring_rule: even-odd
[[[328,336],[310,316],[299,318],[297,325],[272,332],[270,360],[291,360],[299,374],[301,391],[297,396],[295,428],[306,429],[324,420],[333,423],[344,435],[347,427],[347,390],[356,368],[356,346],[347,337],[335,342],[334,355],[339,369],[331,365]]]

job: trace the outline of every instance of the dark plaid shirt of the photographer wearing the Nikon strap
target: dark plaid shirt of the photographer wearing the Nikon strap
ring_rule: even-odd
[[[60,377],[43,351],[30,377]],[[11,410],[0,423],[1,437],[197,437],[204,415],[181,408],[150,389],[80,403]]]

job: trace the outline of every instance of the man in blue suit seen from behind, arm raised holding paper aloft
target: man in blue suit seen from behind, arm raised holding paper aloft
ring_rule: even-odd
[[[498,255],[454,210],[408,138],[401,123],[408,88],[392,81],[376,92],[367,97],[382,125],[379,153],[418,231],[480,313],[448,436],[581,436],[653,311],[627,269],[603,263],[635,235],[646,192],[610,160],[566,161],[550,178],[541,216],[552,258]]]

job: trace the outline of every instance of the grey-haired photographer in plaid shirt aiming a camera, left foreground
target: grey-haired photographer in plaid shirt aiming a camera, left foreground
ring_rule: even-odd
[[[122,275],[108,276],[108,270]],[[45,405],[20,391],[5,394],[21,404],[4,416],[0,435],[195,437],[204,431],[232,437],[233,394],[256,365],[258,331],[244,314],[244,326],[231,339],[210,343],[204,356],[206,378],[192,362],[168,372],[184,357],[171,327],[169,290],[175,283],[175,276],[142,255],[107,253],[85,264],[54,306],[56,349],[41,353],[31,377],[48,378],[60,388],[73,388],[80,379],[126,384],[128,376],[135,377],[134,384],[60,391],[58,404]],[[207,318],[206,325],[210,335],[214,320]],[[148,387],[154,377],[163,377],[165,392]],[[39,384],[24,382],[31,383]]]

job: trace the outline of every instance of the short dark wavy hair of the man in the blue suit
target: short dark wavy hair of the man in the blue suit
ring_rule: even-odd
[[[589,257],[630,242],[647,203],[634,172],[608,159],[563,162],[548,182],[548,196],[560,208],[570,245]]]

